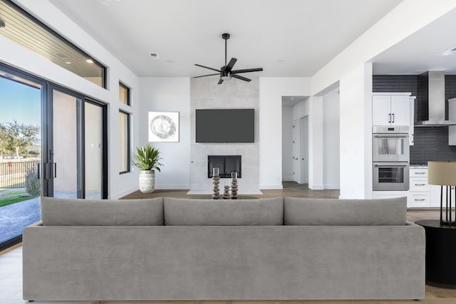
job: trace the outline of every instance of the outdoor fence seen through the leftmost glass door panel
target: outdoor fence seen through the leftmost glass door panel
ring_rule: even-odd
[[[38,161],[0,162],[0,188],[24,188],[26,174],[38,170]]]

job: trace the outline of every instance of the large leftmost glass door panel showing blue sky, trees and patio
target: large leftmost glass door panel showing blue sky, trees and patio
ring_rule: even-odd
[[[41,219],[43,83],[0,66],[0,251]]]

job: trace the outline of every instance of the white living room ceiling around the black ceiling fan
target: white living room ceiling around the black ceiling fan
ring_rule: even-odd
[[[140,76],[311,76],[400,0],[50,0]],[[58,29],[57,29],[58,30]],[[149,53],[157,53],[158,60]],[[386,58],[388,59],[388,58]]]

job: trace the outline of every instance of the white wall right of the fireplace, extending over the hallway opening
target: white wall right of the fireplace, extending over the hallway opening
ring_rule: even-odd
[[[308,77],[259,78],[259,187],[282,189],[282,96],[309,96]]]

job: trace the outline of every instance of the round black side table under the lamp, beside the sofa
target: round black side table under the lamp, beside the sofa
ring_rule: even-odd
[[[456,288],[456,226],[438,219],[415,221],[426,232],[426,284]]]

